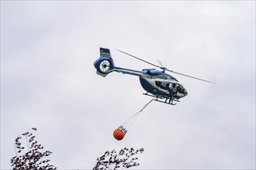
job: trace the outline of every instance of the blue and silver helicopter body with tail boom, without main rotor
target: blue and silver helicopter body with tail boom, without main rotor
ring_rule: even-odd
[[[188,95],[185,87],[183,87],[175,77],[168,73],[164,73],[164,71],[155,69],[138,71],[115,66],[113,59],[110,56],[110,52],[106,53],[101,51],[101,56],[95,61],[94,66],[97,73],[104,77],[112,72],[139,76],[141,86],[147,91],[147,93],[144,94],[152,97],[164,98],[166,100],[178,100]]]

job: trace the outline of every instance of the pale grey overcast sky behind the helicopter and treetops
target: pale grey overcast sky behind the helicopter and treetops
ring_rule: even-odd
[[[189,95],[153,102],[123,141],[112,132],[150,97],[116,66],[170,70]],[[92,169],[105,151],[144,148],[140,169],[255,168],[254,1],[1,1],[1,169],[29,128],[59,169]]]

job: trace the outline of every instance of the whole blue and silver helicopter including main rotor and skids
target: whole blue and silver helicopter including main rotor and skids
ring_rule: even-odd
[[[151,66],[160,68],[161,70],[144,69],[142,71],[139,71],[139,70],[130,70],[130,69],[122,68],[119,66],[115,66],[110,50],[100,47],[99,59],[97,59],[95,63],[93,63],[93,65],[95,66],[95,69],[97,70],[96,73],[99,76],[103,76],[103,77],[107,76],[109,73],[112,73],[112,72],[139,76],[140,84],[144,88],[144,90],[146,90],[146,93],[143,93],[143,94],[150,97],[154,97],[154,100],[162,102],[164,104],[175,105],[174,101],[180,102],[180,99],[182,97],[185,97],[188,95],[188,91],[185,89],[182,83],[179,83],[174,76],[171,76],[170,74],[165,73],[166,71],[170,73],[176,73],[182,76],[187,76],[195,80],[201,80],[207,83],[213,83],[208,80],[199,79],[195,76],[189,76],[183,73],[175,72],[173,70],[168,70],[168,68],[162,66],[162,63],[160,61],[158,61],[158,63],[160,63],[161,66],[158,66],[154,63],[149,63],[144,59],[140,59],[137,56],[133,56],[119,49],[116,49],[116,50],[118,50],[120,53],[124,53],[128,56],[132,56],[135,59],[139,59],[144,63],[148,63]]]

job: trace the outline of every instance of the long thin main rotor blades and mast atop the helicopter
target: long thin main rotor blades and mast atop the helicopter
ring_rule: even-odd
[[[156,66],[156,67],[160,68],[161,70],[164,70],[164,71],[167,70],[167,71],[169,71],[169,72],[171,72],[171,73],[176,73],[176,74],[181,75],[181,76],[187,76],[187,77],[189,77],[189,78],[192,78],[192,79],[195,79],[195,80],[201,80],[201,81],[204,81],[204,82],[207,82],[207,83],[213,83],[213,82],[211,82],[211,81],[203,80],[203,79],[197,78],[197,77],[195,77],[195,76],[189,76],[189,75],[186,75],[186,74],[183,74],[183,73],[175,72],[175,71],[173,71],[173,70],[168,70],[168,68],[164,67],[163,64],[161,63],[161,61],[159,61],[159,60],[157,60],[157,62],[158,62],[161,66],[157,66],[157,65],[154,64],[154,63],[147,62],[147,61],[144,60],[144,59],[140,59],[140,58],[137,57],[137,56],[133,56],[133,55],[131,55],[130,53],[123,52],[123,51],[121,51],[121,50],[119,50],[119,49],[116,49],[116,50],[119,51],[119,52],[121,52],[121,53],[124,53],[124,54],[126,54],[126,55],[128,55],[128,56],[132,56],[132,57],[135,58],[135,59],[139,59],[140,61],[143,61],[144,63],[148,63],[148,64],[150,64],[150,65],[152,65],[152,66]]]

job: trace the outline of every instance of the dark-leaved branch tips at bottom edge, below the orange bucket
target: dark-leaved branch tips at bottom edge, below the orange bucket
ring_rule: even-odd
[[[138,153],[143,153],[144,148],[135,150],[133,148],[123,148],[118,153],[115,150],[106,151],[104,155],[97,158],[97,162],[93,170],[105,169],[123,169],[140,165],[136,162],[135,157]]]

